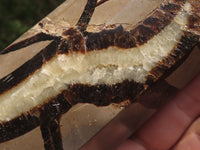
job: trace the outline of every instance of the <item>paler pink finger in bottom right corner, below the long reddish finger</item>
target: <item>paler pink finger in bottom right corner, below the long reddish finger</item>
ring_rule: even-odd
[[[172,150],[199,150],[200,148],[200,117],[191,125],[183,138]]]

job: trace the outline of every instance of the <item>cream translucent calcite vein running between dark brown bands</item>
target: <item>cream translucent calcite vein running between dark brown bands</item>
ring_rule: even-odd
[[[0,96],[0,121],[9,121],[29,111],[73,83],[112,85],[126,79],[145,83],[148,72],[180,41],[189,6],[186,3],[164,30],[140,47],[126,50],[109,47],[85,54],[55,56],[32,76]]]

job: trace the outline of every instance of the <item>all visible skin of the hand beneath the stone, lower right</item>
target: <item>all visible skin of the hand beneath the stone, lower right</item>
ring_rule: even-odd
[[[132,116],[129,107],[81,150],[199,150],[200,73],[137,131]]]

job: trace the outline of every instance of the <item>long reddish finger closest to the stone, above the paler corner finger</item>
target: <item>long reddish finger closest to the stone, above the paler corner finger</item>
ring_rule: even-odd
[[[169,149],[200,114],[200,74],[146,123],[132,139],[134,145],[152,150]]]

